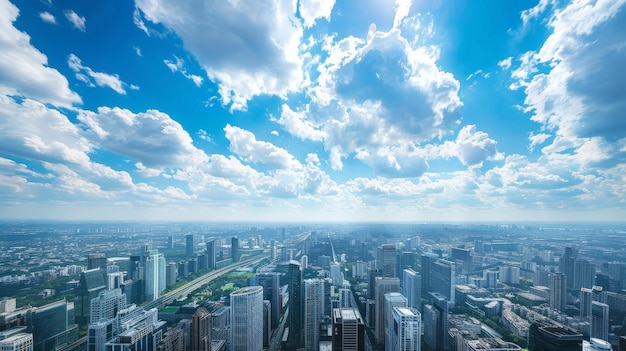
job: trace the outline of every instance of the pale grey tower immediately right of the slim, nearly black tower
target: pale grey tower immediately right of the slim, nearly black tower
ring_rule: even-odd
[[[320,322],[324,317],[324,281],[306,279],[304,289],[304,348],[319,349]]]

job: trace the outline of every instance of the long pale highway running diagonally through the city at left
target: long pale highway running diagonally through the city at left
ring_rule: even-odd
[[[258,256],[253,256],[250,258],[247,258],[241,262],[237,262],[234,264],[231,264],[230,266],[227,267],[223,267],[214,271],[210,271],[207,274],[196,278],[192,281],[190,281],[189,283],[180,286],[170,292],[165,293],[163,296],[159,297],[158,299],[148,302],[147,304],[143,305],[142,307],[145,310],[149,310],[152,308],[162,308],[170,303],[172,303],[174,300],[178,299],[179,297],[184,297],[187,296],[187,294],[194,292],[195,290],[200,289],[203,285],[210,283],[213,279],[235,271],[241,267],[245,267],[245,266],[249,266],[249,265],[253,265],[253,264],[257,264],[259,262],[261,262],[262,260],[269,258],[268,254],[263,254],[263,255],[258,255]]]

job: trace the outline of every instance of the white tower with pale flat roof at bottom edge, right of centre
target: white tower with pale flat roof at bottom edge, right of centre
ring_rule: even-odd
[[[420,351],[422,315],[415,308],[393,307],[385,351]]]

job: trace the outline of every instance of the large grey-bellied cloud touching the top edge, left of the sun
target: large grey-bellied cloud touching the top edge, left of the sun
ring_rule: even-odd
[[[298,46],[302,26],[295,2],[263,0],[197,2],[138,0],[153,23],[178,34],[208,77],[218,83],[222,103],[246,109],[257,95],[285,97],[304,81]],[[181,20],[181,19],[185,20]]]

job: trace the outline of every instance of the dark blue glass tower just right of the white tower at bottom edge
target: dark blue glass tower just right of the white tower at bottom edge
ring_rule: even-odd
[[[424,341],[431,351],[448,350],[448,301],[439,293],[430,293],[424,306]]]

